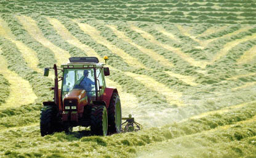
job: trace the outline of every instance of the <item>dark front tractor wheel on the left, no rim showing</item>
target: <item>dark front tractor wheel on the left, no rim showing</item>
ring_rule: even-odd
[[[40,132],[41,135],[48,135],[57,132],[58,129],[58,119],[57,119],[57,109],[52,106],[45,106],[41,109],[40,117]]]

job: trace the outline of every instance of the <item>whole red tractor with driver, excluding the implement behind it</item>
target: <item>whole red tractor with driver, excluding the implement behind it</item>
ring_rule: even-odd
[[[89,127],[91,135],[108,135],[121,132],[121,103],[116,88],[107,88],[105,76],[108,67],[95,57],[73,57],[62,69],[54,69],[54,102],[43,102],[41,109],[41,135],[69,132],[75,126]],[[58,70],[62,76],[58,77]],[[62,81],[58,88],[58,81]]]

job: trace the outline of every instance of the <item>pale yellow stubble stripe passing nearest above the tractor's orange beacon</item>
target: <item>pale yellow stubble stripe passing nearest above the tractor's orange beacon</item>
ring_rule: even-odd
[[[146,68],[145,66],[143,66],[142,63],[138,62],[137,59],[133,58],[132,56],[130,56],[120,48],[108,42],[108,40],[106,40],[104,37],[100,36],[100,32],[94,27],[86,23],[78,23],[78,25],[80,26],[82,31],[84,31],[86,34],[89,34],[89,36],[92,37],[92,39],[94,39],[97,43],[105,45],[105,47],[107,47],[113,53],[115,53],[118,56],[121,56],[121,58],[124,59],[124,61],[126,61],[130,66],[134,66],[137,68]],[[137,63],[137,64],[134,64],[134,63]]]

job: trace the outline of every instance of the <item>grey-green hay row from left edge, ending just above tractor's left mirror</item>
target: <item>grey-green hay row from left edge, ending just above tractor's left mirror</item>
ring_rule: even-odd
[[[1,14],[1,17],[6,21],[12,34],[17,40],[22,41],[36,51],[39,60],[39,67],[43,69],[44,67],[52,67],[56,60],[54,58],[54,53],[49,50],[49,48],[44,47],[41,43],[33,39],[33,37],[28,34],[28,32],[20,24],[19,20],[12,14]]]

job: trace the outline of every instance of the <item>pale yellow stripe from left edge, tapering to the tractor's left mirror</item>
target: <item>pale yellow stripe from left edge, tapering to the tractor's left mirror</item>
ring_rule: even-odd
[[[29,67],[42,73],[42,70],[38,68],[39,61],[36,56],[36,52],[19,40],[15,40],[14,34],[12,34],[10,28],[7,26],[6,22],[2,20],[2,18],[0,18],[0,35],[6,39],[9,39],[12,43],[15,43]]]

